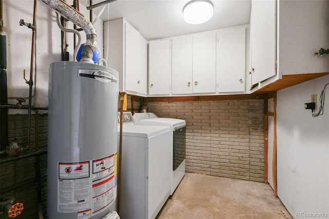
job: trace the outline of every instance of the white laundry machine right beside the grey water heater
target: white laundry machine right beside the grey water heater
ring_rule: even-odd
[[[130,112],[123,117],[130,121],[122,127],[119,216],[155,218],[170,195],[172,132],[166,126],[135,125]]]

